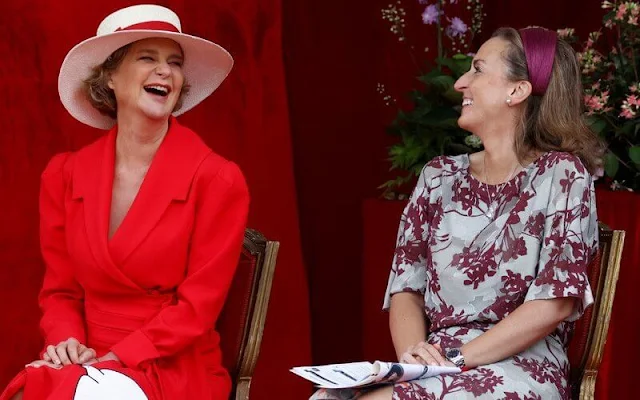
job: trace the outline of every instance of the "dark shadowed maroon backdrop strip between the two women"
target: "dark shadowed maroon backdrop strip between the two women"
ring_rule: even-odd
[[[376,83],[396,71],[400,80],[413,81],[411,66],[393,65],[385,57],[385,49],[397,43],[380,21],[386,4],[283,0],[285,70],[315,363],[355,361],[362,355],[357,323],[360,204],[377,194],[388,168],[386,146],[391,144],[384,134],[391,114],[379,101]]]

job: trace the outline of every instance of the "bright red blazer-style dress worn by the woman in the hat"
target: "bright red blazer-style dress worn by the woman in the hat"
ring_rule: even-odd
[[[115,128],[55,156],[42,174],[45,345],[74,337],[121,362],[29,367],[0,400],[20,389],[24,400],[229,397],[214,325],[240,256],[249,195],[234,163],[175,118],[169,123],[111,239]]]

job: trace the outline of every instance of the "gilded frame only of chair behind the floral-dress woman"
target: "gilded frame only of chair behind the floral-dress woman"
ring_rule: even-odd
[[[593,400],[595,397],[596,379],[602,362],[604,345],[607,341],[624,245],[624,231],[611,230],[604,224],[600,224],[598,231],[601,267],[597,287],[592,288],[594,309],[591,321],[589,321],[585,352],[580,362],[582,366],[578,395],[580,400]]]

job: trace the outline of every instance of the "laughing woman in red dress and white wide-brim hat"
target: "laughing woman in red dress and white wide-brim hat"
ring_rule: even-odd
[[[249,195],[240,169],[174,116],[232,64],[155,5],[116,11],[69,52],[62,103],[109,132],[42,174],[45,349],[0,400],[228,398],[214,325]]]

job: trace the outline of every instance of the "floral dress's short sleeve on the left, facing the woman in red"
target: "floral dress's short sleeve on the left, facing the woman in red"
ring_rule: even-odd
[[[396,250],[389,274],[383,309],[391,306],[391,296],[399,292],[425,293],[427,248],[428,167],[425,167],[400,218]]]

